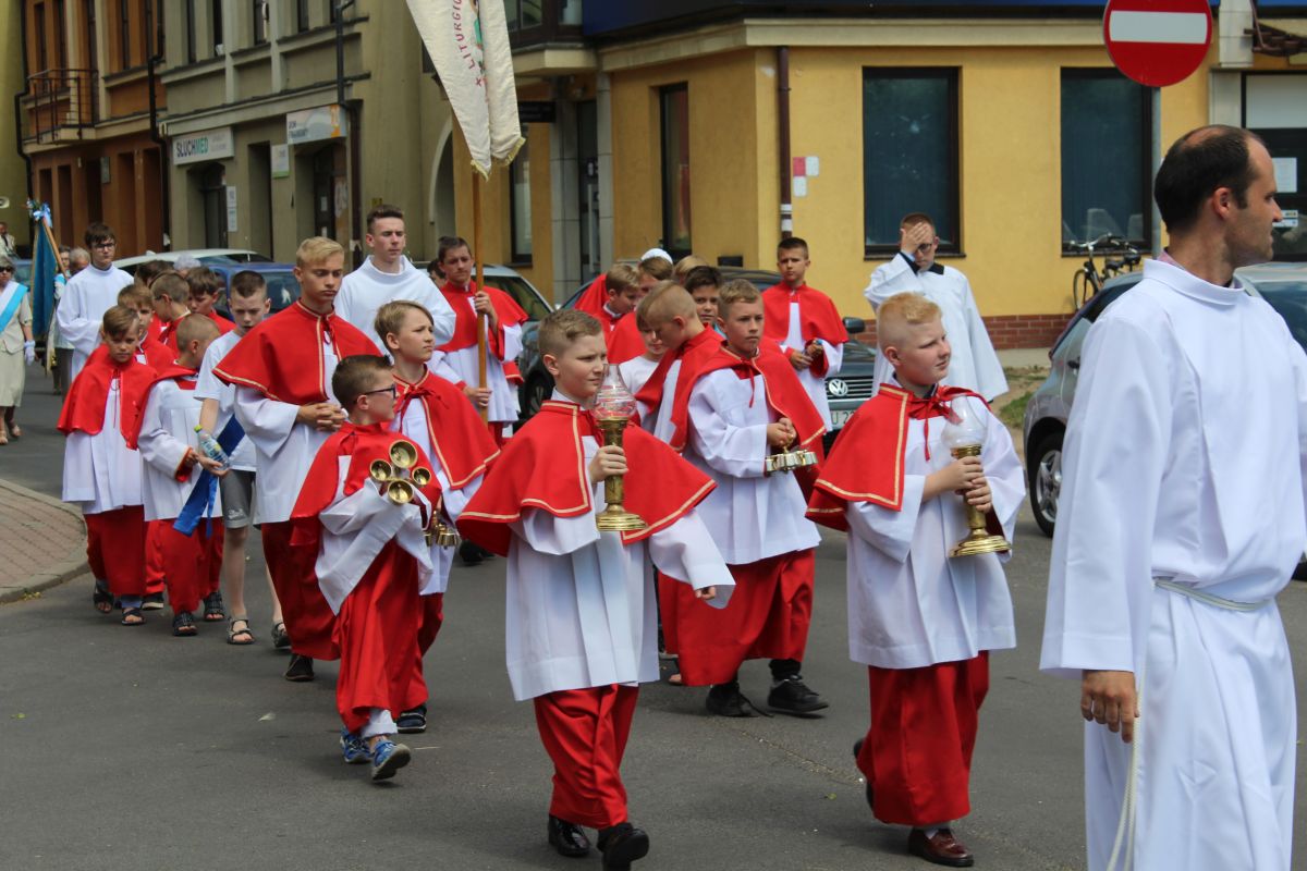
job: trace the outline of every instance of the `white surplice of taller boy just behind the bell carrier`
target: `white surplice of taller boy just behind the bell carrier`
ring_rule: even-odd
[[[323,389],[327,401],[336,402],[331,379],[339,359],[331,341],[323,337]],[[314,465],[318,449],[331,437],[307,423],[297,423],[299,406],[269,400],[250,387],[237,388],[235,415],[255,448],[255,524],[290,520],[299,488]]]

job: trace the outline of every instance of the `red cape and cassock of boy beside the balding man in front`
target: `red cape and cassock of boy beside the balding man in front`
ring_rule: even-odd
[[[882,385],[835,440],[809,499],[808,518],[848,531],[850,503],[901,511],[908,420],[928,427],[948,415],[948,402],[959,396],[980,398],[962,388],[941,385],[920,398]],[[992,531],[1001,531],[992,512],[989,522]],[[857,768],[872,786],[876,819],[925,827],[966,816],[976,725],[989,688],[988,653],[919,669],[868,666],[868,680],[872,717]]]

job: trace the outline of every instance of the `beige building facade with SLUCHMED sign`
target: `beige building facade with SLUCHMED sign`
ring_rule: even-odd
[[[455,231],[451,114],[405,4],[358,0],[340,22],[332,0],[166,5],[174,247],[286,261],[325,235],[358,256],[383,201],[414,255]]]

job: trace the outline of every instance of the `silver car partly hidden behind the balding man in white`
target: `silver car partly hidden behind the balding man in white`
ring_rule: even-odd
[[[1248,293],[1261,296],[1285,319],[1294,340],[1307,349],[1307,264],[1264,264],[1235,273]],[[1120,276],[1103,285],[1067,324],[1048,351],[1048,377],[1030,397],[1023,426],[1030,507],[1046,535],[1057,524],[1061,492],[1061,445],[1067,418],[1080,380],[1080,353],[1085,333],[1112,302],[1137,285],[1142,273]]]

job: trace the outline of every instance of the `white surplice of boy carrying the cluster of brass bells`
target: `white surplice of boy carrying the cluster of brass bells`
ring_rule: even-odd
[[[422,522],[423,515],[431,511],[426,496],[414,491],[414,501],[396,505],[371,481],[346,496],[345,477],[352,461],[350,456],[340,458],[336,498],[318,515],[323,529],[314,571],[318,588],[335,614],[340,614],[345,598],[391,539],[417,560],[420,586],[431,576]]]

